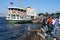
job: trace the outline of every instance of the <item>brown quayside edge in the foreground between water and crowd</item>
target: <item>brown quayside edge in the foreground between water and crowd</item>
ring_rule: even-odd
[[[44,35],[45,30],[43,28],[40,29],[30,29],[28,27],[28,32],[21,36],[20,40],[56,40],[56,38],[52,38],[49,35],[46,37]],[[19,40],[18,39],[18,40]]]

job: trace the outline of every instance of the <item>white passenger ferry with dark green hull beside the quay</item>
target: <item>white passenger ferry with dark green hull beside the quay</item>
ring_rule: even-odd
[[[6,21],[8,24],[32,23],[32,17],[36,16],[36,11],[27,7],[25,9],[18,7],[8,7]]]

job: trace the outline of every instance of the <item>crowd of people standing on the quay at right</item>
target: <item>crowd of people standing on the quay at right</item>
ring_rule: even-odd
[[[44,15],[40,15],[40,27],[42,27],[49,35],[55,37],[58,35],[58,28],[60,27],[60,17],[48,17],[45,18]]]

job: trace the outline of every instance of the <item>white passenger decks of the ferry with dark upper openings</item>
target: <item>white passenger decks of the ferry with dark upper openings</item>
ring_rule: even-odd
[[[10,7],[8,8],[8,20],[27,20],[30,17],[27,16],[26,10],[22,8]]]

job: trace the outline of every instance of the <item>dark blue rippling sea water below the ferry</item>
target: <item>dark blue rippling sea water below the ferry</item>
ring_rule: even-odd
[[[38,24],[6,24],[6,18],[0,17],[0,40],[17,40],[24,33],[38,27]]]

